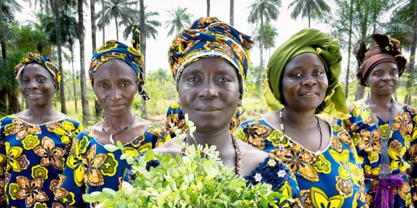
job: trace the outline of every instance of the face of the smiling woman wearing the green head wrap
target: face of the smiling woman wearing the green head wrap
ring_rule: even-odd
[[[316,54],[299,54],[284,68],[282,93],[289,108],[315,111],[325,99],[327,86],[325,65]]]

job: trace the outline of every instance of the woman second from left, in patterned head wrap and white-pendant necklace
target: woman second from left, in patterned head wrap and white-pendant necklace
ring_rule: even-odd
[[[143,56],[139,52],[140,36],[133,26],[133,47],[115,40],[107,41],[93,54],[89,77],[92,89],[104,109],[104,120],[82,131],[74,139],[71,155],[65,166],[56,198],[67,207],[84,205],[83,193],[117,190],[127,166],[120,159],[121,151],[109,152],[104,145],[120,141],[125,150],[150,150],[170,139],[159,125],[139,118],[131,112],[131,104],[143,89]]]

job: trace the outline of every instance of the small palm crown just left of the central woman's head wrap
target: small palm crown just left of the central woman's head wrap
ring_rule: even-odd
[[[187,8],[177,8],[175,10],[167,11],[170,14],[170,19],[165,22],[165,28],[171,26],[170,31],[167,36],[172,35],[172,33],[178,33],[186,27],[186,25],[191,24],[190,18],[193,17],[190,13],[187,13]]]

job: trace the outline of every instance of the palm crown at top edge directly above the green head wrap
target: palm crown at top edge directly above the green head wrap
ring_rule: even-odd
[[[288,6],[288,9],[294,6],[293,12],[291,13],[292,19],[297,19],[301,15],[301,18],[309,18],[309,27],[310,19],[315,17],[320,17],[323,12],[328,13],[330,7],[324,0],[294,0]]]

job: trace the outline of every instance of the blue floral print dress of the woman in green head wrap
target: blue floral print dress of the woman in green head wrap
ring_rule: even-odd
[[[338,125],[330,127],[332,136],[322,152],[304,149],[272,127],[263,115],[243,122],[234,134],[286,164],[297,179],[304,207],[368,207],[352,139]]]

